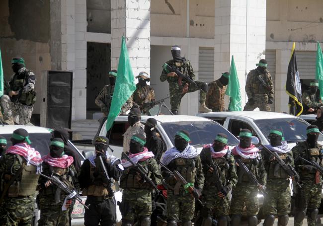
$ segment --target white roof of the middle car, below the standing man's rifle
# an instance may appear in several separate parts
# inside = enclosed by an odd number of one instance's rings
[[[118,116],[117,119],[124,119],[128,118],[127,115]],[[149,118],[154,118],[160,123],[167,123],[167,122],[185,122],[185,121],[209,121],[207,118],[202,118],[198,116],[191,116],[191,115],[142,115],[141,120],[146,121]]]

